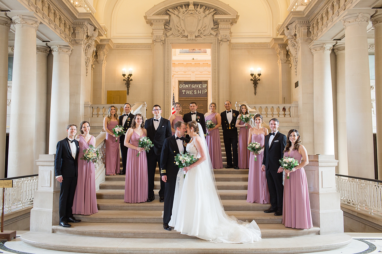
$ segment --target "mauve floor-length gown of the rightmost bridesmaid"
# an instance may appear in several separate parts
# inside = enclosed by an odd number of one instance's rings
[[[301,163],[302,155],[298,150],[292,150],[290,155],[284,153],[285,157],[292,157]],[[289,179],[284,182],[283,199],[283,221],[285,227],[311,228],[312,214],[309,203],[308,181],[304,168],[296,169],[289,174]]]

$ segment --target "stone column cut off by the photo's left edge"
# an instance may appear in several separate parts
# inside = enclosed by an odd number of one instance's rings
[[[10,19],[0,12],[0,178],[4,178],[6,96],[8,91],[8,32]]]

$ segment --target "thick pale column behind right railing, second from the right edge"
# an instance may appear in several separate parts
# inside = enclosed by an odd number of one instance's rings
[[[374,179],[367,24],[370,14],[345,16],[345,86],[348,173]]]

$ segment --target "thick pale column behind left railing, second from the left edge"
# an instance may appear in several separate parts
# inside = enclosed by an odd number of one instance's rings
[[[8,14],[12,14],[9,12]],[[13,54],[12,107],[9,132],[8,177],[33,174],[36,122],[36,31],[40,21],[17,15]]]

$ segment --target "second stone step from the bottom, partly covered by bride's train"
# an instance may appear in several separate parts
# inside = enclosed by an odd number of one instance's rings
[[[58,225],[52,227],[53,233],[67,235],[87,235],[100,237],[128,237],[128,238],[195,238],[182,235],[176,230],[163,229],[163,223],[105,223],[79,222],[64,228]],[[259,223],[261,238],[293,237],[302,235],[316,235],[320,228],[309,229],[286,228],[280,223]]]

